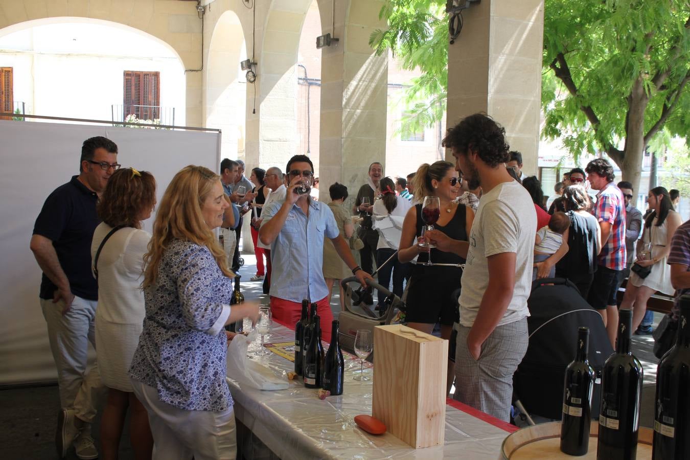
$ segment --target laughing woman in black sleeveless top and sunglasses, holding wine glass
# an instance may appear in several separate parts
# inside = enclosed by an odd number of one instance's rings
[[[424,197],[438,197],[441,205],[441,215],[434,224],[436,230],[444,232],[452,239],[467,241],[467,235],[472,228],[474,212],[469,206],[455,201],[460,190],[460,181],[453,163],[436,161],[431,166],[423,164],[415,174],[413,180],[414,196],[420,203]],[[431,334],[436,323],[440,323],[441,337],[450,339],[453,323],[457,322],[457,297],[453,292],[460,288],[462,269],[449,266],[424,266],[431,254],[433,263],[464,263],[465,260],[457,254],[442,252],[436,248],[431,251],[422,248],[418,243],[422,241],[422,204],[411,208],[402,224],[400,237],[400,251],[398,260],[406,263],[417,257],[413,265],[412,276],[408,282],[406,298],[407,326]],[[455,376],[455,363],[449,359],[447,389]]]

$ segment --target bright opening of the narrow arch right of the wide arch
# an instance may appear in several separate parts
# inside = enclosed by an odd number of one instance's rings
[[[222,130],[221,156],[244,157],[246,90],[239,62],[247,59],[239,17],[226,10],[215,22],[204,72],[204,126]]]

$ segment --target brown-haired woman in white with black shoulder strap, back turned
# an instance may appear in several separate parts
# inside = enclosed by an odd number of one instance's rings
[[[128,408],[135,459],[151,458],[153,438],[148,414],[132,392],[128,370],[145,313],[140,286],[144,253],[151,235],[141,230],[141,221],[151,216],[155,204],[155,179],[150,173],[133,168],[115,171],[98,202],[98,215],[103,222],[93,234],[91,257],[99,292],[96,354],[101,381],[108,387],[101,419],[104,460],[117,459]]]

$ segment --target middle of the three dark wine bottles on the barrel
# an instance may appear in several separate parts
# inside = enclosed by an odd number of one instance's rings
[[[633,312],[618,312],[615,353],[604,362],[597,459],[634,459],[638,450],[642,364],[630,351]]]

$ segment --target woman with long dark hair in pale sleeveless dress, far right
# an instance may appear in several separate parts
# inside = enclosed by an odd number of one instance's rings
[[[637,330],[647,312],[647,301],[655,292],[673,294],[671,267],[666,263],[671,252],[671,239],[682,223],[673,210],[669,192],[663,187],[649,190],[649,208],[653,212],[644,221],[642,238],[638,240],[636,264],[651,267],[647,277],[640,278],[631,270],[620,308],[633,309],[633,329]]]

